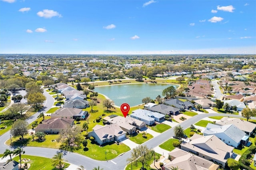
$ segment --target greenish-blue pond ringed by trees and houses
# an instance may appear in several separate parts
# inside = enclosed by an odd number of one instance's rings
[[[163,97],[162,91],[170,86],[178,88],[178,85],[165,83],[136,83],[95,87],[94,91],[107,96],[114,101],[116,106],[128,103],[130,107],[133,107],[142,104],[142,99],[145,97],[150,97],[153,100],[158,95]]]

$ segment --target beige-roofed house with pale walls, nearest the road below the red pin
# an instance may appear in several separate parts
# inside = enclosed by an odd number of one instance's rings
[[[96,125],[91,132],[88,133],[88,136],[93,136],[94,141],[102,145],[104,143],[112,141],[121,141],[125,137],[126,132],[122,130],[117,123],[106,125],[104,127]]]

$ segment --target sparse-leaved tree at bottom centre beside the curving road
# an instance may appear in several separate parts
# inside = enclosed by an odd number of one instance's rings
[[[134,165],[138,165],[138,162],[142,164],[142,170],[144,170],[144,164],[148,160],[152,158],[151,156],[152,150],[149,149],[146,145],[140,145],[137,146],[136,148],[133,148],[132,153],[131,153],[131,158],[128,158],[129,162],[134,163]]]

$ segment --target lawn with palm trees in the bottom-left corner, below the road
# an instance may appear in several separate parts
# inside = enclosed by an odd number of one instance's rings
[[[25,149],[26,152],[26,149]],[[45,158],[45,157],[40,157],[40,156],[31,156],[31,155],[21,155],[21,158],[28,158],[30,159],[29,162],[27,162],[28,164],[30,164],[30,168],[31,170],[58,170],[57,168],[52,166],[52,159],[50,158]],[[13,158],[15,161],[20,162],[20,157],[16,156]],[[21,163],[25,163],[23,161],[21,161]],[[60,169],[60,170],[64,170],[65,168],[67,168],[68,166],[70,166],[69,163],[65,163],[64,168]]]

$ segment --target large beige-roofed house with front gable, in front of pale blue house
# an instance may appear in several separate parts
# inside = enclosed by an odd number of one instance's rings
[[[202,136],[199,134],[194,134],[190,138],[190,142],[182,142],[180,148],[206,160],[222,164],[222,167],[226,166],[228,158],[232,158],[234,149],[215,135]]]

